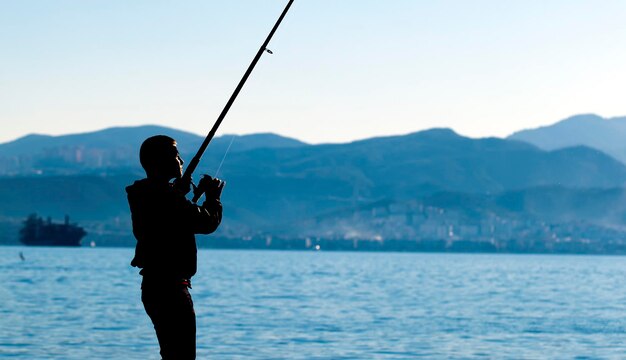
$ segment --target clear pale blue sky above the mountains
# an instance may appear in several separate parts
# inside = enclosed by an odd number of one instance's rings
[[[204,134],[285,1],[0,0],[0,142]],[[296,0],[220,133],[506,136],[626,115],[626,1]]]

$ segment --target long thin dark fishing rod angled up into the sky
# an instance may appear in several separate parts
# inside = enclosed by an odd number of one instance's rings
[[[217,129],[222,124],[222,121],[226,117],[226,114],[228,113],[228,110],[230,110],[230,107],[233,105],[233,102],[235,102],[235,99],[237,98],[237,95],[239,95],[239,92],[243,88],[243,85],[246,83],[246,80],[248,80],[248,77],[252,73],[252,70],[254,70],[254,67],[256,66],[257,62],[261,58],[261,55],[263,55],[264,52],[272,54],[272,51],[267,48],[267,45],[269,44],[270,40],[272,39],[272,36],[274,36],[274,33],[276,32],[276,29],[278,29],[278,26],[283,21],[283,18],[285,17],[285,15],[287,15],[287,12],[289,11],[289,8],[291,7],[291,4],[293,3],[293,1],[294,0],[289,0],[289,3],[287,3],[287,6],[285,7],[285,9],[283,10],[282,14],[280,14],[280,17],[276,21],[276,24],[274,24],[274,27],[270,31],[269,35],[267,35],[267,38],[265,39],[265,41],[263,42],[263,44],[259,48],[259,51],[257,51],[256,55],[254,56],[254,59],[252,59],[252,63],[250,63],[250,66],[248,66],[248,70],[246,70],[246,73],[243,75],[243,77],[239,81],[239,84],[235,88],[235,91],[230,96],[230,99],[228,99],[228,102],[226,103],[226,106],[224,106],[224,109],[222,110],[220,115],[217,117],[217,120],[215,121],[215,124],[213,124],[213,127],[211,128],[211,131],[209,131],[209,133],[207,134],[206,138],[202,142],[202,145],[200,145],[200,148],[198,149],[198,152],[193,157],[193,159],[191,159],[191,161],[189,162],[189,165],[187,165],[187,169],[185,169],[185,173],[183,174],[183,176],[180,178],[180,180],[176,184],[177,186],[179,186],[180,189],[187,189],[186,191],[187,192],[189,191],[189,187],[192,184],[191,175],[196,170],[196,167],[198,167],[198,164],[200,163],[200,159],[202,158],[202,155],[204,154],[204,151],[206,150],[207,146],[209,146],[209,143],[211,142],[211,140],[213,140],[213,137],[215,136],[215,133],[217,132]],[[197,193],[194,194],[193,202],[198,201],[200,196],[201,196],[201,194],[197,194]]]

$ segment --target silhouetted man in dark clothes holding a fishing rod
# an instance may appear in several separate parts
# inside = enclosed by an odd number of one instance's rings
[[[194,234],[209,234],[222,219],[224,183],[207,177],[198,187],[205,201],[198,206],[170,180],[182,176],[183,160],[176,141],[148,138],[139,152],[147,178],[126,188],[137,239],[131,265],[141,268],[141,301],[156,330],[161,357],[195,359],[196,315],[189,290],[196,273]]]

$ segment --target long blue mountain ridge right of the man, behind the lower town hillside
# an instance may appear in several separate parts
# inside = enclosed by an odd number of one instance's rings
[[[626,167],[587,147],[547,152],[519,141],[470,139],[449,129],[433,129],[348,144],[256,149],[234,154],[224,166],[224,175],[232,178],[255,174],[274,181],[335,184],[332,192],[343,189],[343,198],[360,199],[553,184],[621,186]]]

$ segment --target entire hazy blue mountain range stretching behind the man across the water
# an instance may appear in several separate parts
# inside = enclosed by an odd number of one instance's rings
[[[582,118],[587,120],[574,117],[555,127],[607,122]],[[214,175],[223,162],[218,176],[227,181],[226,207],[216,236],[225,239],[443,239],[457,244],[482,239],[508,248],[507,241],[515,237],[541,238],[545,244],[572,236],[580,243],[615,236],[626,227],[621,205],[626,166],[577,143],[554,141],[546,150],[544,143],[519,140],[539,130],[508,139],[470,139],[431,129],[322,145],[275,134],[225,135],[211,143],[198,174]],[[99,243],[131,245],[124,187],[143,176],[138,148],[154,134],[177,139],[186,159],[203,140],[142,126],[30,135],[0,144],[0,242],[14,242],[19,223],[38,212],[54,219],[71,215]]]

